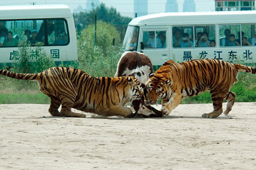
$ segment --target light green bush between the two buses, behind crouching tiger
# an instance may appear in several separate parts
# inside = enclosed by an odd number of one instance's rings
[[[118,34],[118,31],[110,24],[104,22],[98,24],[98,46],[94,46],[92,25],[84,29],[78,37],[79,68],[95,77],[113,77],[121,53],[108,42],[114,34]]]

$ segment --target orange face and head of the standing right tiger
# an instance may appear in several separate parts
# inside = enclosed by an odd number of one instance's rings
[[[146,84],[147,88],[147,100],[150,103],[156,103],[158,99],[166,99],[170,94],[170,84],[172,83],[170,80],[167,80],[161,74],[153,74],[151,73],[149,76],[149,80]]]

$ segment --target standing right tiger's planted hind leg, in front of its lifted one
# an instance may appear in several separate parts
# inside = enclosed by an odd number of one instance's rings
[[[206,118],[215,118],[218,117],[219,115],[221,115],[221,113],[223,112],[222,110],[222,102],[223,99],[225,97],[226,93],[217,93],[216,92],[211,92],[211,96],[212,96],[212,105],[214,110],[210,113],[204,113],[202,115],[202,117],[206,117]]]

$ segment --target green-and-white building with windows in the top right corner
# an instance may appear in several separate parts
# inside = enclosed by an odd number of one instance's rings
[[[255,0],[215,0],[215,11],[247,11],[255,9]]]

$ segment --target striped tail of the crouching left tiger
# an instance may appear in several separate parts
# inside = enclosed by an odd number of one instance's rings
[[[0,70],[0,74],[3,76],[19,79],[19,80],[40,80],[41,73],[25,74],[25,73],[14,73],[6,70]]]

